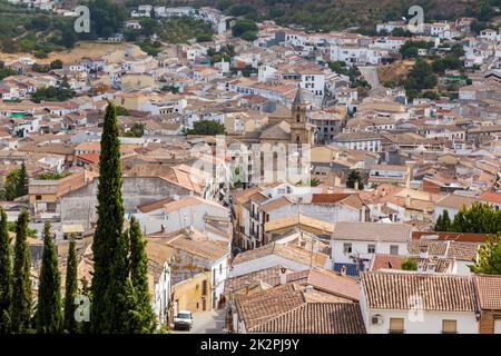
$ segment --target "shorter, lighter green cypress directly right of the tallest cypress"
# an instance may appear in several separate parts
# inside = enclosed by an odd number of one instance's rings
[[[135,217],[130,219],[130,285],[127,294],[136,306],[129,310],[129,333],[151,333],[156,328],[156,316],[151,307],[148,288],[148,257],[146,255],[146,241],[143,238],[141,228]]]

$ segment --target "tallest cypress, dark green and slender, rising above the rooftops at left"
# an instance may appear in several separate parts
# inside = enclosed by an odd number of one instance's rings
[[[125,248],[120,246],[124,245],[120,140],[117,109],[111,102],[106,108],[102,128],[97,199],[90,327],[92,333],[111,333],[114,325],[120,323],[117,300],[127,276],[127,270],[119,270],[127,259],[127,244]]]

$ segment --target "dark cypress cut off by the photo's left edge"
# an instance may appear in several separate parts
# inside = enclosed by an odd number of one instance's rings
[[[10,247],[7,214],[0,210],[0,334],[9,330],[12,303],[12,249]]]

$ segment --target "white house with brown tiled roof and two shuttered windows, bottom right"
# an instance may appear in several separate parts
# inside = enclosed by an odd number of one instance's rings
[[[361,289],[367,334],[479,333],[471,277],[370,271],[362,274]]]

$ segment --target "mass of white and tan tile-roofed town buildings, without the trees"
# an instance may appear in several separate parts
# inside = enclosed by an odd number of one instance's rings
[[[444,211],[501,206],[499,32],[473,36],[468,18],[412,38],[391,34],[404,22],[362,36],[264,21],[248,42],[218,10],[151,4],[125,27],[151,16],[202,19],[215,34],[157,56],[119,39],[43,71],[48,59],[2,59],[14,75],[0,80],[1,187],[22,164],[30,180],[0,206],[11,221],[29,210],[33,270],[51,220],[61,263],[76,235],[79,277],[92,278],[112,102],[125,218],[148,241],[163,325],[179,310],[219,310],[228,333],[501,333],[501,276],[469,267],[490,234],[434,230]],[[469,81],[448,71],[439,83],[458,81],[456,97],[410,100],[380,82],[410,39],[432,43],[418,57],[461,44]]]

